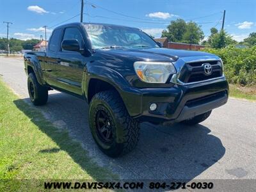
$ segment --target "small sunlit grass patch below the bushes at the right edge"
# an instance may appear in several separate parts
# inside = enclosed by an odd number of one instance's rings
[[[229,84],[230,97],[236,97],[239,99],[256,100],[256,88],[255,87],[243,87],[236,84]]]

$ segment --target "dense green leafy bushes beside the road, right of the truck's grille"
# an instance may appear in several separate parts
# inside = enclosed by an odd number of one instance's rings
[[[256,46],[244,49],[234,46],[223,49],[206,48],[203,51],[220,56],[229,83],[256,85]]]

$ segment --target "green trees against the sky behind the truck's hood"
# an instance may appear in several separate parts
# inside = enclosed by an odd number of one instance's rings
[[[193,21],[186,22],[183,19],[172,20],[167,28],[163,30],[161,37],[168,38],[170,42],[202,44],[217,49],[234,44],[242,44],[249,47],[256,45],[256,33],[250,33],[243,42],[237,42],[225,30],[218,31],[216,28],[211,28],[211,35],[207,40],[204,40],[205,35],[201,26]]]

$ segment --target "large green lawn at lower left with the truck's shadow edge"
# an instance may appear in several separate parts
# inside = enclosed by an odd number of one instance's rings
[[[0,191],[10,179],[118,179],[1,81],[0,90]]]

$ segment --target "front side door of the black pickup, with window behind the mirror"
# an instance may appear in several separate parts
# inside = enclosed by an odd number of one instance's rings
[[[63,29],[61,42],[67,39],[76,39],[80,47],[84,47],[82,31],[78,26],[67,26]],[[57,53],[56,57],[58,58],[58,65],[56,65],[58,87],[68,92],[83,95],[83,71],[88,58],[84,57],[80,52],[62,49]]]

